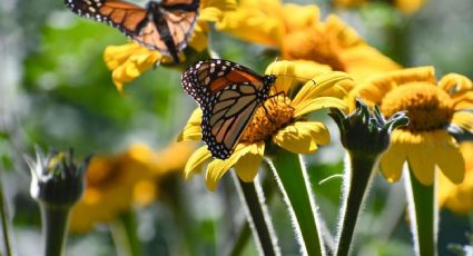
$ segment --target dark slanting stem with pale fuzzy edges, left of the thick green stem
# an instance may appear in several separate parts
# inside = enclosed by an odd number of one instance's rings
[[[233,176],[238,188],[238,194],[247,206],[247,218],[255,239],[259,244],[257,246],[263,255],[279,255],[274,227],[267,213],[266,204],[264,203],[264,195],[262,188],[257,187],[259,184],[257,181],[245,183],[237,175],[234,174]]]

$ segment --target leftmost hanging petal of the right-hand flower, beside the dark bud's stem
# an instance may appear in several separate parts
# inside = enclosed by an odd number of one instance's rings
[[[401,178],[403,165],[406,160],[405,152],[406,151],[402,144],[394,142],[391,145],[390,149],[387,149],[387,151],[382,156],[381,170],[387,181],[394,183]]]

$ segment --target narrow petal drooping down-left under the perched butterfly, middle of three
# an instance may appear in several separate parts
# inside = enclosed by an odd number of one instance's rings
[[[235,151],[228,159],[215,159],[210,161],[210,164],[207,166],[207,173],[205,176],[207,188],[214,191],[217,188],[217,184],[220,178],[238,161],[243,155],[246,155],[250,147],[247,145],[238,144],[235,148]]]

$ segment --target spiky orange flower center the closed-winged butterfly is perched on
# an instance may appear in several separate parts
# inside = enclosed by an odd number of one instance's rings
[[[293,120],[294,108],[289,105],[289,98],[278,96],[266,100],[265,108],[259,107],[255,117],[244,131],[242,142],[262,141],[274,135],[276,130]]]

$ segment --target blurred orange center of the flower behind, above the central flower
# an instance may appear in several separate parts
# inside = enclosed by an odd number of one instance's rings
[[[284,58],[314,60],[331,66],[335,71],[345,71],[339,51],[333,37],[313,28],[292,32],[284,38]]]

